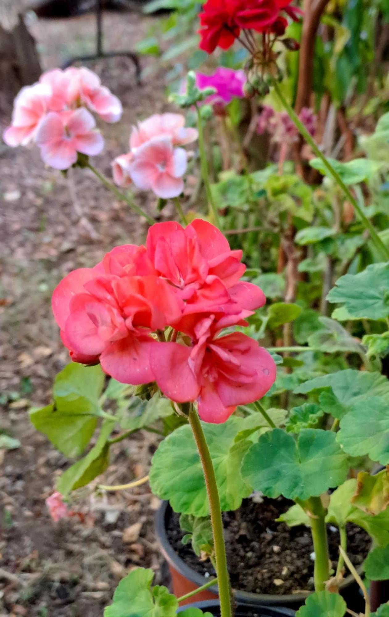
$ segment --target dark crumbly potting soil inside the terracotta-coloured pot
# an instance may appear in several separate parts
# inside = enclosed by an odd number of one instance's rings
[[[311,532],[306,526],[289,528],[275,521],[293,505],[287,499],[264,498],[262,503],[243,500],[241,507],[223,515],[228,569],[233,589],[255,594],[293,594],[313,590],[314,561]],[[180,516],[172,513],[167,524],[167,537],[175,552],[199,574],[214,569],[209,560],[199,561],[191,545],[183,545],[178,523]],[[327,525],[332,567],[338,563],[338,529]],[[363,529],[347,525],[347,554],[354,566],[361,565],[371,540]]]

